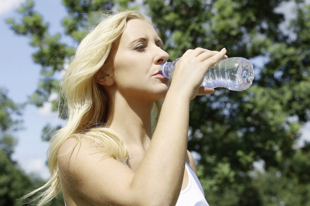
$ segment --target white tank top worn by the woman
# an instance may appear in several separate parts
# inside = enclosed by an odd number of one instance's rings
[[[188,174],[188,185],[180,192],[175,206],[209,206],[196,174],[186,162],[185,168]]]

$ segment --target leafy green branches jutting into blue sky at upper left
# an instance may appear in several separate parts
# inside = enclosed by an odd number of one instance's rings
[[[60,34],[51,36],[48,33],[49,24],[43,22],[43,17],[33,11],[33,1],[27,1],[17,11],[23,14],[21,22],[7,19],[7,23],[19,35],[30,39],[30,45],[37,48],[33,54],[33,61],[41,65],[42,79],[38,89],[30,98],[30,102],[42,106],[52,92],[59,92],[57,74],[64,70],[64,63],[75,52],[70,46],[60,43]]]

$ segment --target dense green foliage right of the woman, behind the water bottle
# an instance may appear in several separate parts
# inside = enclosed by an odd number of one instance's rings
[[[170,60],[198,46],[225,47],[229,57],[266,59],[263,68],[255,68],[255,82],[246,91],[216,88],[214,95],[192,101],[188,148],[201,155],[199,177],[210,205],[270,205],[262,191],[274,189],[281,196],[293,190],[267,182],[258,186],[250,176],[255,161],[263,160],[266,171],[277,168],[283,181],[296,178],[296,187],[299,178],[308,178],[304,172],[297,175],[305,170],[293,161],[297,154],[301,160],[308,156],[293,145],[309,120],[310,7],[297,4],[297,18],[287,28],[294,38],[280,30],[284,18],[274,12],[283,2],[144,1]],[[293,197],[277,200],[293,205],[288,200]],[[294,205],[305,205],[307,198]]]

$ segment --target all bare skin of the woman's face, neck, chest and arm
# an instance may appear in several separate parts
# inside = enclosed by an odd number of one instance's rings
[[[214,92],[200,85],[207,69],[227,58],[226,49],[186,51],[169,88],[168,79],[155,75],[169,57],[159,40],[152,25],[129,20],[113,48],[117,72],[97,79],[108,94],[107,124],[125,142],[131,168],[105,156],[90,139],[82,138],[78,149],[72,148],[75,139],[66,140],[58,165],[67,206],[175,205],[188,184],[185,161],[196,173],[187,151],[189,103],[196,95]],[[151,107],[163,97],[152,136]]]

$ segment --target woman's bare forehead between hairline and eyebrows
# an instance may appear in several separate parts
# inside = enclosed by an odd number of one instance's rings
[[[157,32],[153,26],[144,20],[131,19],[127,22],[127,27],[122,33],[120,44],[128,44],[136,38],[158,39]]]

